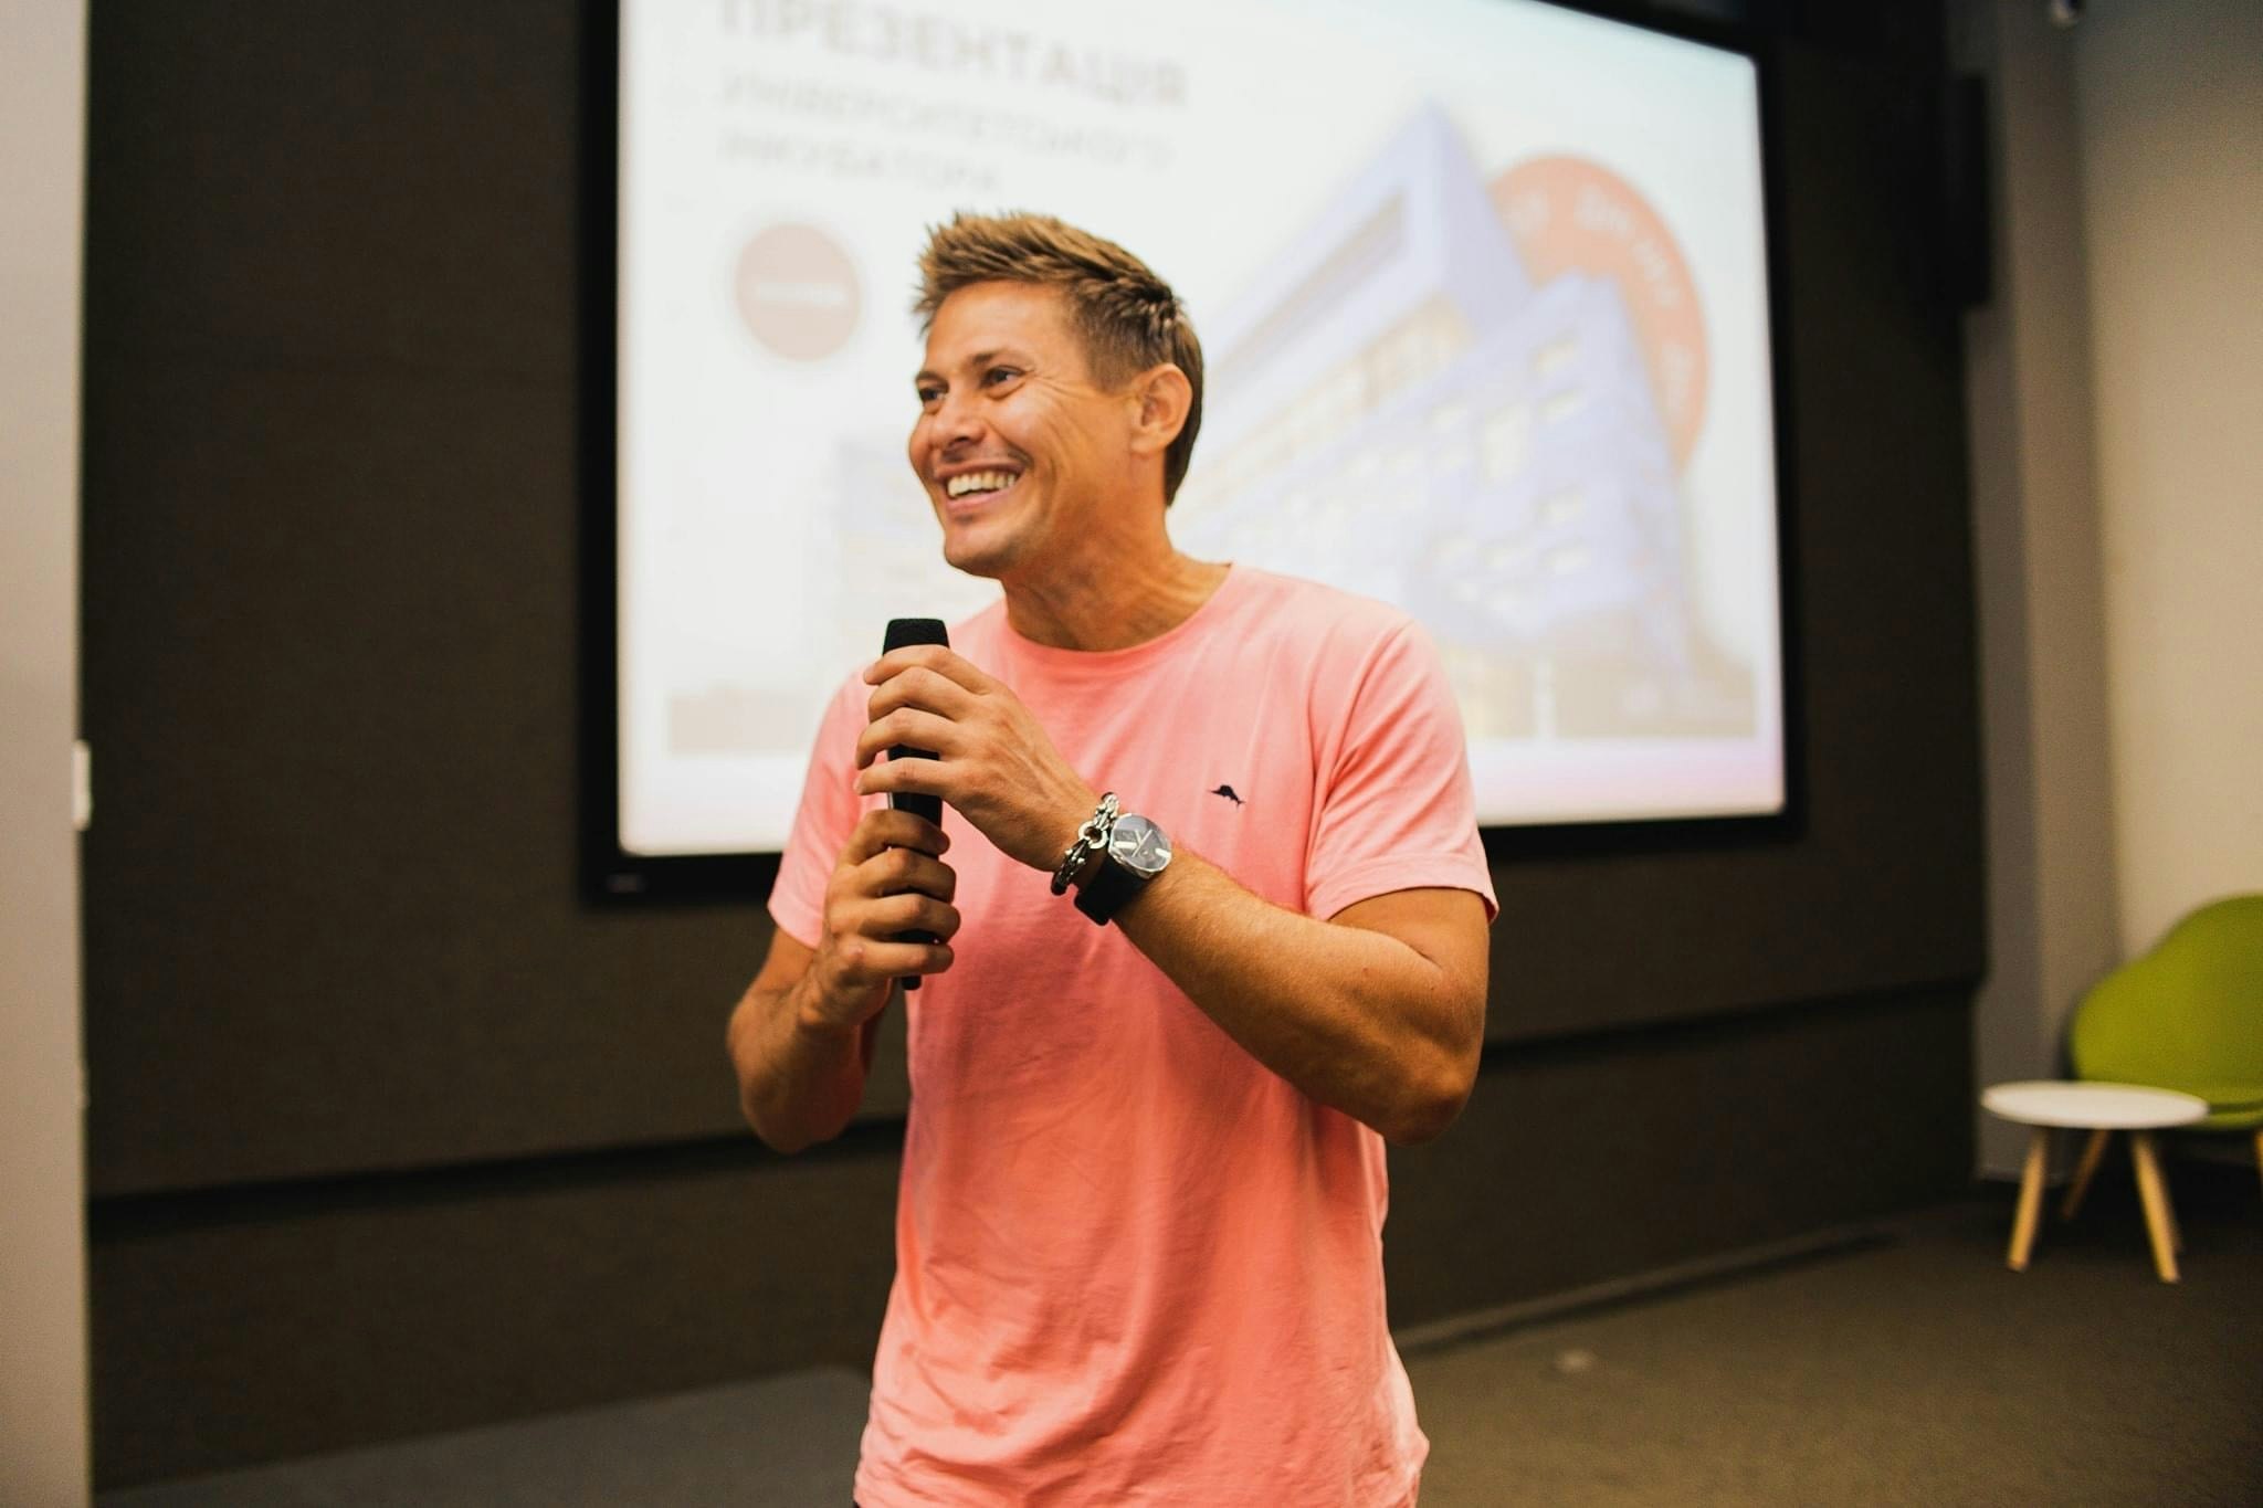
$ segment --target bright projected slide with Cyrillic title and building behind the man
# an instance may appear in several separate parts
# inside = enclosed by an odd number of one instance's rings
[[[1417,615],[1487,825],[1783,805],[1754,63],[1521,0],[622,0],[620,848],[776,852],[941,561],[926,228],[1179,289],[1174,543]]]

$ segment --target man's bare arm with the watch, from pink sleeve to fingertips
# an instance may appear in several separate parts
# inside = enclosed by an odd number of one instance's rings
[[[858,791],[941,796],[1000,852],[1050,873],[1098,791],[1012,687],[937,647],[887,653],[864,678],[878,690]],[[889,744],[939,757],[878,760]],[[1469,1099],[1487,983],[1471,891],[1396,891],[1317,920],[1181,848],[1116,925],[1258,1063],[1394,1142],[1435,1137]]]

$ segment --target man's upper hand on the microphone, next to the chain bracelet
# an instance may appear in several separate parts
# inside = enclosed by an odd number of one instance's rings
[[[860,794],[941,796],[1009,859],[1041,870],[1061,861],[1100,794],[1068,769],[1012,687],[939,644],[894,649],[864,681],[876,690],[855,748]],[[880,760],[892,744],[937,757]]]

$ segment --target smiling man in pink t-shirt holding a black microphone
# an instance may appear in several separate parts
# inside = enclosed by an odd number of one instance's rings
[[[729,1031],[794,1151],[926,981],[855,1497],[1412,1503],[1383,1139],[1469,1097],[1494,907],[1442,669],[1170,545],[1202,348],[1145,265],[962,215],[921,274],[912,470],[1005,597],[831,705]]]

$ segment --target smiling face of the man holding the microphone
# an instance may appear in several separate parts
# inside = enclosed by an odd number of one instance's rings
[[[912,470],[973,577],[1059,567],[1125,488],[1134,405],[1093,378],[1059,292],[975,283],[944,298],[917,378]]]

